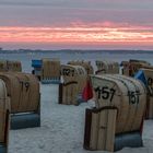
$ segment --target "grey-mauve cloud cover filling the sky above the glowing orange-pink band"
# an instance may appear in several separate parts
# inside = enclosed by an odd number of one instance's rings
[[[0,0],[3,26],[66,26],[76,21],[153,25],[152,14],[152,0]]]

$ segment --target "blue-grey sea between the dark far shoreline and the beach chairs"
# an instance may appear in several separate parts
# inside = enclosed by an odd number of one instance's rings
[[[91,61],[96,69],[96,60],[118,61],[119,63],[129,59],[139,59],[149,61],[153,64],[153,51],[141,50],[57,50],[57,51],[17,51],[0,52],[0,60],[20,60],[24,72],[32,72],[32,59],[58,58],[61,63],[70,60]]]

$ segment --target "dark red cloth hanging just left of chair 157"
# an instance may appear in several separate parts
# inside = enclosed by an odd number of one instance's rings
[[[83,93],[82,93],[82,98],[84,101],[89,101],[93,97],[93,89],[92,89],[92,85],[90,83],[90,81],[86,82],[86,85],[83,90]]]

